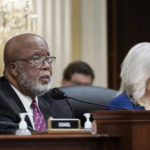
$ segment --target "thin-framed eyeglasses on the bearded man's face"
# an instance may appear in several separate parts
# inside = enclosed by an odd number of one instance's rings
[[[51,67],[55,59],[56,59],[55,56],[51,56],[51,57],[46,56],[46,57],[34,57],[34,58],[29,58],[29,59],[16,59],[16,60],[12,60],[11,62],[25,61],[27,63],[32,64],[35,68],[42,68],[45,62],[47,62],[49,66]]]

